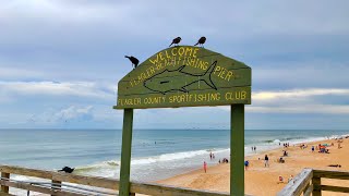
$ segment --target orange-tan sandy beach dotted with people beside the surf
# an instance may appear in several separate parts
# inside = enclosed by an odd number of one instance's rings
[[[318,144],[334,144],[327,147],[329,154],[320,154],[315,149],[312,152],[312,146]],[[337,139],[327,139],[305,144],[308,147],[301,148],[300,145],[291,145],[288,148],[280,148],[256,152],[256,155],[245,157],[250,161],[249,169],[245,173],[245,194],[249,195],[276,195],[287,184],[290,175],[296,176],[304,168],[314,168],[323,170],[349,171],[349,138],[342,139],[341,148],[338,148]],[[277,159],[282,156],[282,150],[287,150],[288,156],[284,157],[285,163],[278,163]],[[269,157],[269,168],[265,168],[264,155]],[[261,160],[258,160],[258,158]],[[218,161],[218,160],[217,160]],[[328,164],[340,164],[341,168],[328,167]],[[203,169],[197,169],[189,173],[180,174],[170,179],[158,181],[157,183],[198,188],[219,192],[229,192],[230,167],[227,163],[220,163],[208,167],[207,173]],[[285,183],[278,183],[279,175],[284,176]],[[323,180],[323,184],[347,186],[349,181]],[[333,192],[323,192],[323,195],[347,195]]]

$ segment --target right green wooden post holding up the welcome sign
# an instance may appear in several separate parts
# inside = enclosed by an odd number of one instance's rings
[[[231,105],[230,195],[244,195],[244,105]]]

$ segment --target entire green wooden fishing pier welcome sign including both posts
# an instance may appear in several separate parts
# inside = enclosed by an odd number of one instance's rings
[[[120,196],[130,195],[133,109],[230,105],[230,195],[244,195],[244,105],[251,105],[251,68],[191,46],[157,52],[118,84],[124,109]]]

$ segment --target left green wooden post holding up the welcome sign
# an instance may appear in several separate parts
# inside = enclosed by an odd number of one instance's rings
[[[121,147],[121,169],[120,169],[120,196],[130,195],[130,166],[131,166],[131,144],[132,144],[133,109],[124,109]]]

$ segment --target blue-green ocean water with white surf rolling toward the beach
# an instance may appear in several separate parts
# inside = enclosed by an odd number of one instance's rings
[[[120,130],[0,130],[0,164],[46,170],[74,167],[74,173],[119,179]],[[348,135],[334,130],[246,130],[245,155]],[[216,164],[229,158],[228,130],[134,130],[131,180],[157,181],[197,169],[206,161]],[[209,151],[215,159],[209,159]],[[25,179],[20,179],[25,180]]]

